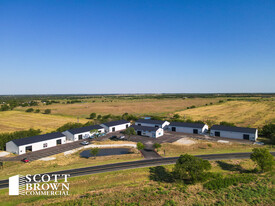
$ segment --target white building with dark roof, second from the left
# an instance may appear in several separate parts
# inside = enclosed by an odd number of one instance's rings
[[[87,127],[81,127],[81,128],[74,128],[74,129],[69,129],[65,132],[62,132],[67,140],[69,141],[77,141],[81,139],[87,139],[90,136],[92,136],[94,133],[91,133],[91,130],[97,130],[99,133],[104,132],[104,128],[101,127],[100,125],[91,125]]]

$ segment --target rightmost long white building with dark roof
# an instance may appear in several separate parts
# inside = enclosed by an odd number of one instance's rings
[[[210,129],[210,136],[256,141],[258,138],[258,129],[213,125]]]

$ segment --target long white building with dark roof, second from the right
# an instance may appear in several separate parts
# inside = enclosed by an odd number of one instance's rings
[[[208,126],[201,123],[171,122],[168,126],[168,130],[172,132],[204,134],[208,131]]]

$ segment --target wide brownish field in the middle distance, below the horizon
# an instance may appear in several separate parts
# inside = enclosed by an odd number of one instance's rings
[[[84,103],[75,104],[52,104],[32,107],[34,109],[51,109],[52,114],[67,115],[73,117],[87,118],[90,113],[106,115],[122,115],[129,114],[163,114],[174,113],[186,109],[186,107],[202,106],[212,102],[213,104],[221,100],[221,98],[189,98],[189,99],[106,99],[106,100],[86,100]],[[102,102],[104,101],[104,102]],[[18,108],[19,110],[26,110],[25,108]]]

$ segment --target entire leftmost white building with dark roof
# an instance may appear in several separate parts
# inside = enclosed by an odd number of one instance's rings
[[[61,132],[54,132],[11,140],[6,143],[6,151],[21,155],[26,152],[42,150],[65,143],[66,136]]]

